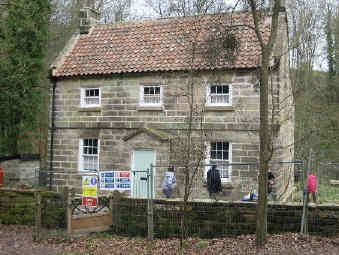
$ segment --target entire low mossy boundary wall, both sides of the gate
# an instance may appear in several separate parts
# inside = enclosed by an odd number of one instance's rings
[[[62,194],[41,192],[42,226],[66,228],[66,203]],[[89,218],[90,225],[107,224],[114,233],[147,236],[147,200],[114,198],[112,221]],[[178,237],[182,202],[154,200],[154,234],[156,238]],[[334,236],[339,233],[339,206],[317,205],[308,208],[310,234]],[[299,232],[300,204],[269,204],[269,233]],[[187,229],[189,236],[213,238],[255,233],[256,204],[245,202],[189,202]],[[102,222],[99,222],[102,220]],[[34,191],[0,189],[0,224],[34,225]],[[87,224],[87,223],[86,223]],[[76,229],[76,226],[74,226]],[[83,226],[79,229],[83,232]],[[77,231],[74,231],[77,232]],[[86,232],[86,231],[85,231]]]

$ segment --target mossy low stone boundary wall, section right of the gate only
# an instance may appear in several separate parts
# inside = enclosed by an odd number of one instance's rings
[[[178,201],[154,201],[155,237],[178,237],[180,234],[180,206]],[[244,202],[190,202],[188,235],[202,238],[253,234],[256,228],[256,204]],[[113,203],[113,231],[129,236],[147,235],[147,200],[123,198]],[[302,205],[270,204],[269,233],[299,232]],[[339,206],[309,207],[309,233],[337,235]]]

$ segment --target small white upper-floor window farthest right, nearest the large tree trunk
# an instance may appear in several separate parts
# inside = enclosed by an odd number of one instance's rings
[[[229,84],[210,84],[207,86],[207,105],[232,105],[232,86]]]

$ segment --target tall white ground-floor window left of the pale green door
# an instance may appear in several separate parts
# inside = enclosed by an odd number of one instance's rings
[[[100,140],[79,140],[79,171],[99,171]]]

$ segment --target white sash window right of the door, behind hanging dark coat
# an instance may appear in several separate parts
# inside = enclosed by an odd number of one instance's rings
[[[231,182],[232,166],[232,144],[225,141],[211,141],[207,144],[206,148],[206,164],[209,166],[205,169],[205,176],[207,171],[211,168],[210,165],[217,165],[220,171],[222,182]]]

